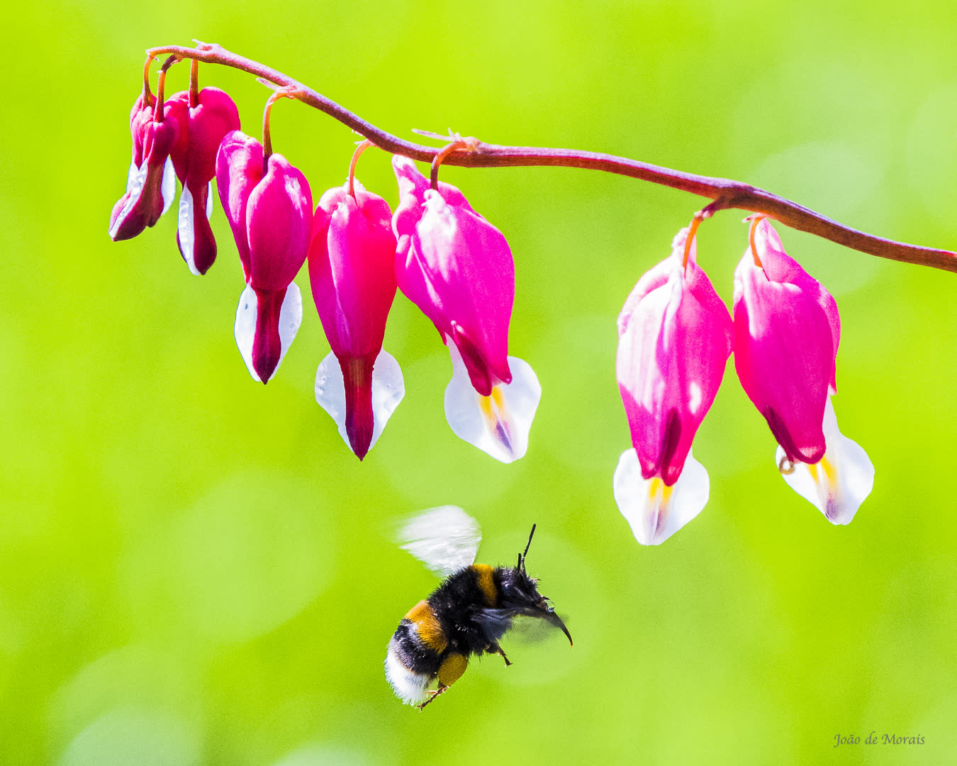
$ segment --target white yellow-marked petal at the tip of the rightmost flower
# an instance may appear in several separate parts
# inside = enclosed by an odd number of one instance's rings
[[[828,397],[824,410],[824,439],[827,451],[812,465],[797,462],[785,482],[816,507],[832,524],[850,524],[857,508],[874,488],[874,463],[857,441],[837,429],[834,405]],[[777,465],[785,460],[780,446],[774,455]]]

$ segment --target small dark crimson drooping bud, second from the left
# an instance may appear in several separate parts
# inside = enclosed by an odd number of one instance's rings
[[[223,137],[239,129],[239,112],[219,88],[203,88],[195,104],[190,105],[188,91],[174,94],[169,101],[180,102],[184,115],[180,138],[170,152],[183,185],[176,243],[189,271],[206,274],[216,259],[216,240],[210,226],[216,152]]]

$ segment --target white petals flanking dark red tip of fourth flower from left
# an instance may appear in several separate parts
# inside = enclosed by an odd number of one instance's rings
[[[399,363],[388,351],[380,350],[372,367],[372,440],[369,441],[369,449],[372,449],[375,442],[382,436],[389,417],[392,417],[392,413],[405,395],[406,386]],[[345,441],[345,446],[352,449],[348,434],[345,432],[343,370],[332,351],[326,354],[323,361],[319,363],[319,369],[316,370],[316,401],[336,421],[339,436]]]

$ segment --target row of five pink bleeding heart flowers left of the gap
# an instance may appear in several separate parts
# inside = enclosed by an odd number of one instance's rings
[[[177,241],[190,271],[204,274],[216,254],[214,176],[246,282],[235,339],[254,379],[275,375],[296,336],[302,298],[293,280],[308,260],[331,347],[316,374],[316,399],[360,460],[405,393],[398,363],[382,348],[397,287],[449,348],[445,411],[453,431],[501,462],[523,457],[541,387],[526,363],[508,356],[512,254],[456,187],[433,190],[411,160],[393,157],[394,214],[351,177],[323,193],[313,211],[302,173],[240,132],[222,91],[146,101],[131,112],[133,161],[110,237],[135,237],[154,225],[171,204],[175,172],[183,184]]]

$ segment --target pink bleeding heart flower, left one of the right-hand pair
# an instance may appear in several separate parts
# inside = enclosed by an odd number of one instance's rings
[[[663,542],[707,503],[707,471],[691,457],[691,442],[731,353],[731,320],[696,262],[694,240],[684,262],[687,235],[679,232],[618,316],[618,391],[633,449],[618,462],[614,498],[643,545]]]

